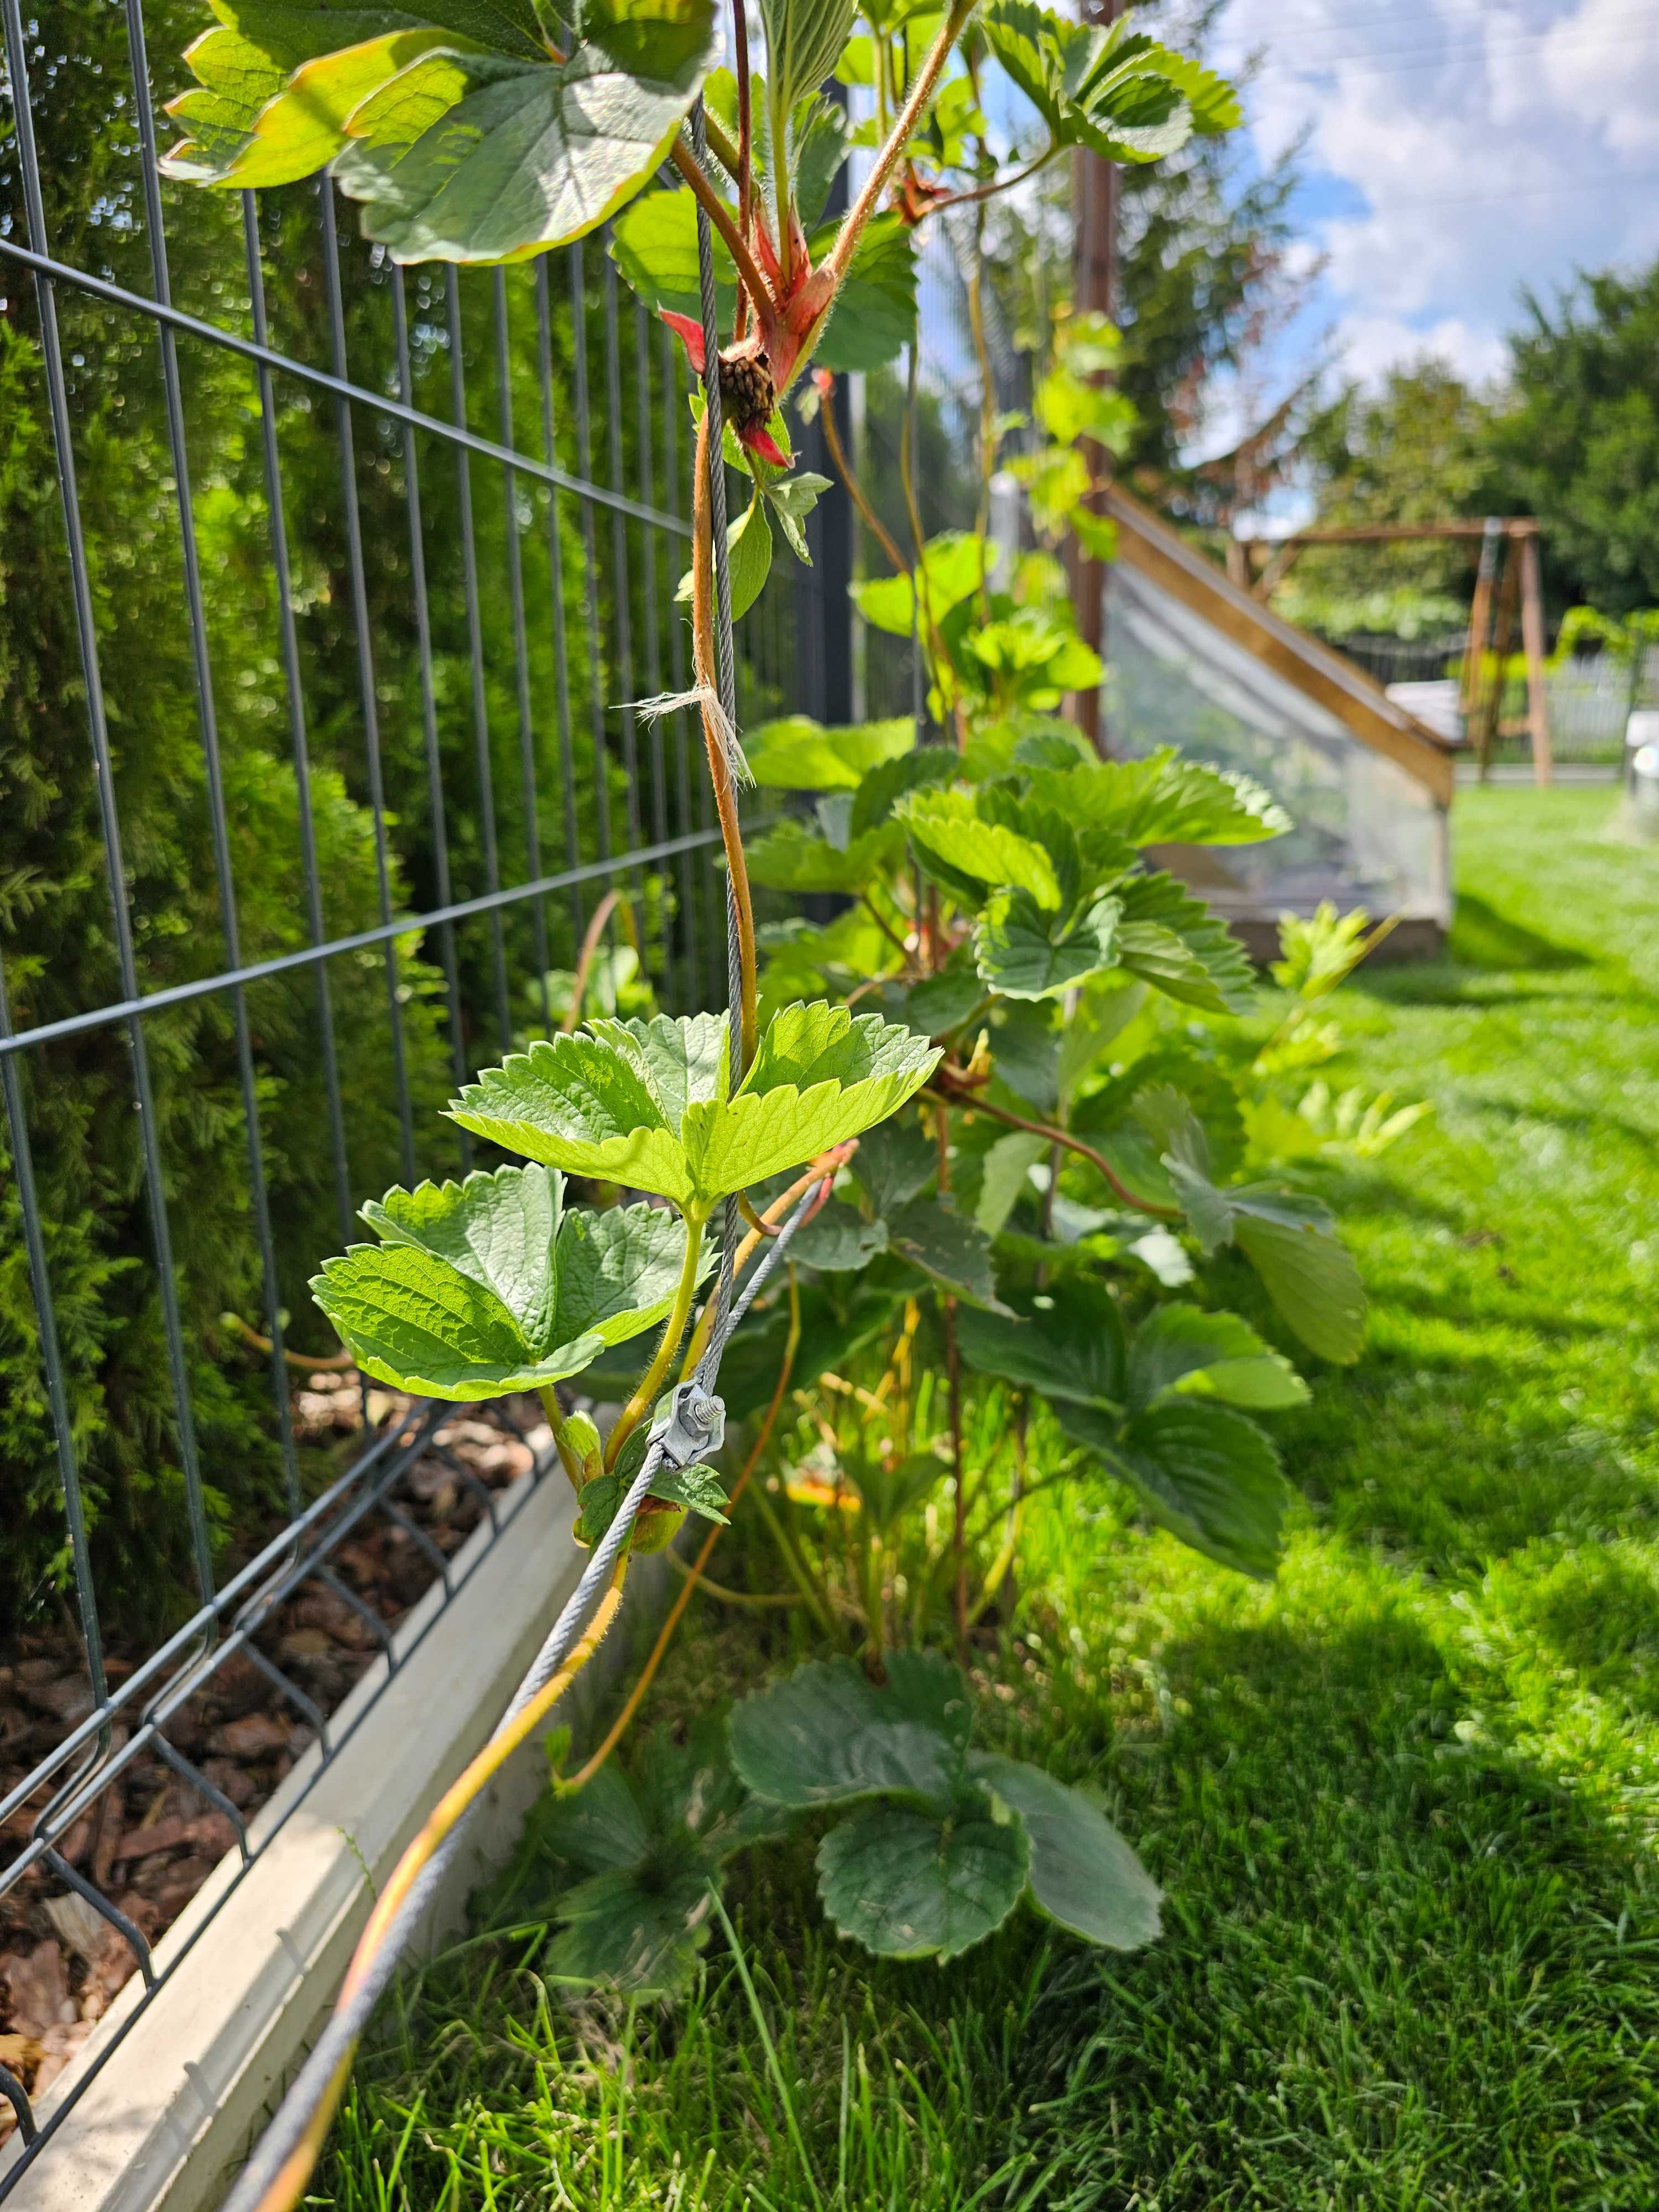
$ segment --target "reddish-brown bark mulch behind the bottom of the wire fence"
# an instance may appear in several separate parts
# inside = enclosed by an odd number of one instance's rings
[[[363,1394],[352,1371],[312,1374],[292,1405],[303,1442],[334,1442],[345,1451],[354,1431],[363,1429]],[[369,1391],[372,1420],[400,1422],[407,1405],[387,1391]],[[484,1506],[460,1480],[456,1462],[500,1491],[529,1471],[533,1453],[520,1438],[542,1420],[542,1407],[529,1396],[456,1407],[392,1491],[403,1517],[438,1553],[458,1551],[484,1517]],[[383,1513],[365,1515],[332,1555],[332,1566],[349,1597],[310,1579],[254,1637],[257,1648],[323,1714],[345,1701],[380,1650],[369,1615],[396,1628],[436,1579],[436,1564],[422,1544]],[[115,1639],[106,1652],[111,1683],[117,1686],[144,1657],[144,1646],[124,1648]],[[69,1619],[29,1628],[2,1659],[0,1794],[9,1794],[93,1710],[93,1692],[86,1655]],[[117,1725],[115,1745],[126,1734]],[[166,1736],[250,1818],[314,1741],[314,1728],[248,1652],[234,1652],[166,1723]],[[29,1843],[49,1796],[51,1787],[42,1785],[4,1823],[0,1851],[7,1858]],[[153,1944],[234,1843],[237,1832],[223,1809],[148,1752],[122,1770],[58,1849]],[[135,1971],[126,1938],[66,1889],[51,1867],[31,1867],[0,1896],[0,2066],[38,2097],[69,2066]],[[0,2143],[13,2126],[11,2106],[0,2097]]]

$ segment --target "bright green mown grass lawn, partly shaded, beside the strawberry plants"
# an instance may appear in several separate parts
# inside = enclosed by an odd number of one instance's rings
[[[1610,816],[1460,796],[1447,960],[1340,1002],[1343,1079],[1436,1110],[1338,1192],[1371,1336],[1281,1422],[1279,1582],[1033,1520],[982,1732],[1108,1792],[1164,1942],[876,1964],[803,1838],[730,1885],[752,2002],[719,1936],[677,2013],[573,2020],[535,1931],[453,1953],[314,2203],[1659,2205],[1659,854]],[[699,1599],[646,1721],[770,1621]]]

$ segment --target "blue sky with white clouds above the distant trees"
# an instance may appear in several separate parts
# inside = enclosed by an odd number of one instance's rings
[[[1325,263],[1270,378],[1329,336],[1363,383],[1425,352],[1484,383],[1522,285],[1659,254],[1659,0],[1228,0],[1208,60],[1252,53],[1252,153],[1307,135]]]

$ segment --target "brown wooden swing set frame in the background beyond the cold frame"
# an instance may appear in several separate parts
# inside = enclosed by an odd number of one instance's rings
[[[1469,608],[1469,644],[1462,657],[1458,706],[1467,741],[1480,761],[1480,781],[1491,770],[1493,741],[1531,737],[1533,776],[1555,781],[1551,717],[1544,690],[1544,591],[1537,562],[1535,515],[1453,518],[1449,522],[1367,522],[1349,529],[1294,531],[1290,538],[1230,538],[1228,575],[1267,602],[1290,573],[1303,546],[1411,544],[1427,538],[1471,538],[1480,542],[1475,597]],[[1265,555],[1256,566],[1256,555]],[[1526,717],[1500,721],[1504,659],[1520,604],[1522,653],[1526,655]]]

